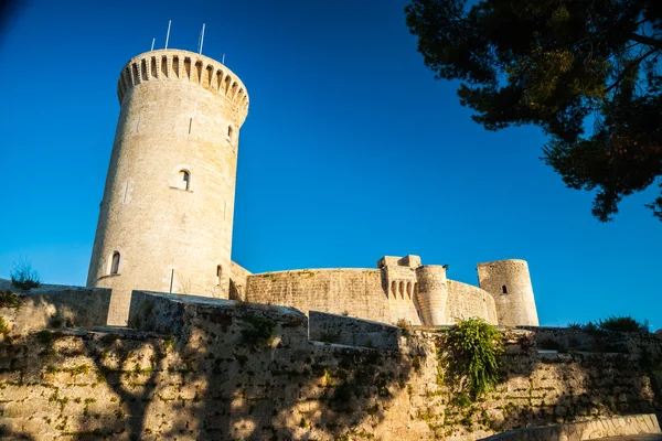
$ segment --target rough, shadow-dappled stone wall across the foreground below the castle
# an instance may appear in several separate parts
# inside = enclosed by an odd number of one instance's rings
[[[563,345],[579,331],[503,329],[503,381],[471,401],[448,380],[444,330],[143,291],[128,329],[95,327],[98,316],[19,326],[40,295],[0,297],[7,438],[477,440],[661,410],[662,340],[649,334],[563,352],[540,337]],[[54,316],[68,308],[52,305]],[[659,432],[647,418],[640,431]]]

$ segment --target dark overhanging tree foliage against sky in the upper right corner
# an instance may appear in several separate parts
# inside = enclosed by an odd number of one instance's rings
[[[488,130],[535,125],[544,161],[592,214],[662,176],[659,0],[412,0],[418,52]],[[662,220],[660,196],[647,207]]]

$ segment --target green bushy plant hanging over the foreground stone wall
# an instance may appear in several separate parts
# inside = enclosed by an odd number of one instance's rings
[[[450,377],[459,384],[466,379],[472,398],[501,380],[499,356],[503,354],[503,336],[495,326],[482,319],[461,320],[448,330],[446,344]]]

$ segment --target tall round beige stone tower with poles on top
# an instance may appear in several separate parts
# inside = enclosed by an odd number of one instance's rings
[[[117,95],[87,286],[113,289],[119,325],[132,290],[227,298],[246,87],[214,60],[161,50],[126,64]]]

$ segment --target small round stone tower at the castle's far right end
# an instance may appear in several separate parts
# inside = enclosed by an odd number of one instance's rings
[[[525,260],[508,259],[478,263],[478,283],[494,297],[499,324],[537,326],[533,286]]]

